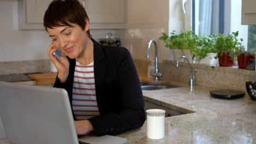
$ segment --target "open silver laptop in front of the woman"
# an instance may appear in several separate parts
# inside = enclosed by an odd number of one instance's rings
[[[127,143],[117,136],[78,136],[65,89],[0,82],[0,115],[9,143]]]

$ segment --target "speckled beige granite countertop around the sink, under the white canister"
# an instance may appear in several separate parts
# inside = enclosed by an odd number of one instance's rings
[[[155,83],[147,76],[139,77],[141,82]],[[117,136],[128,143],[256,143],[256,101],[247,93],[240,99],[217,99],[209,93],[214,88],[191,88],[176,81],[158,83],[181,87],[143,91],[144,100],[188,114],[166,117],[165,137],[160,140],[147,138],[147,122]]]

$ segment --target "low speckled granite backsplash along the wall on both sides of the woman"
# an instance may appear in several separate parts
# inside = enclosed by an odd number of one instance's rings
[[[136,69],[140,74],[148,73],[148,65],[152,62],[149,60],[133,59]],[[226,67],[214,67],[208,65],[194,64],[197,69],[195,80],[196,85],[214,87],[214,88],[230,88],[246,92],[245,82],[256,81],[256,71],[234,69]],[[48,72],[50,70],[50,60],[41,59],[34,61],[16,61],[16,62],[0,62],[0,74],[23,74],[35,72]],[[159,71],[162,72],[162,79],[178,80],[188,82],[189,65],[188,63],[176,63],[169,60],[159,62]]]

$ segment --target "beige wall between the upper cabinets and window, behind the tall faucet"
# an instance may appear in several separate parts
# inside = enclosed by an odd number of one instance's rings
[[[176,3],[181,3],[175,0]],[[178,8],[175,11],[179,12]],[[173,10],[174,11],[174,10]],[[176,13],[178,13],[176,12]],[[159,61],[172,57],[172,51],[159,40],[161,33],[168,33],[169,1],[129,0],[126,1],[126,29],[117,30],[124,47],[130,50],[135,59],[146,60],[148,41],[155,39],[158,43]],[[175,13],[175,14],[176,14]],[[174,17],[174,16],[173,16]],[[179,15],[178,15],[179,17]],[[179,31],[177,29],[177,31]],[[150,61],[154,61],[154,46],[150,49]]]

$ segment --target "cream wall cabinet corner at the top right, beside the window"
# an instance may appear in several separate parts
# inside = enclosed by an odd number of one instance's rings
[[[255,0],[242,0],[242,25],[256,25],[255,5]]]

